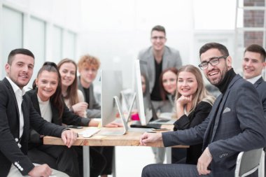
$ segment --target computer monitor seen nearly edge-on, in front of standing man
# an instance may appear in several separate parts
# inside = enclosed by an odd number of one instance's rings
[[[151,96],[147,80],[147,63],[142,60],[135,60],[135,86],[137,93],[137,109],[141,125],[147,125],[153,118],[153,108],[151,104]],[[141,77],[144,78],[141,80]],[[142,82],[144,81],[144,82]],[[142,87],[145,84],[145,87]]]

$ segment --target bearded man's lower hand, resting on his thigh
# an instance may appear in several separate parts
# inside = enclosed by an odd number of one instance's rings
[[[199,160],[197,160],[197,171],[199,172],[200,175],[206,175],[211,173],[207,167],[211,163],[212,157],[211,153],[209,151],[209,148],[207,147],[202,155],[200,156]]]

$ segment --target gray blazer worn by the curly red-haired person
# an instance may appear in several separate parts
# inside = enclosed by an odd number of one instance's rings
[[[83,93],[85,101],[87,103],[90,103],[89,107],[87,108],[87,118],[100,118],[101,117],[101,106],[97,103],[97,101],[94,97],[93,84],[91,84],[89,87],[89,91],[90,91],[90,100],[89,101],[86,100],[83,86],[80,83],[80,77],[78,77],[78,89]]]

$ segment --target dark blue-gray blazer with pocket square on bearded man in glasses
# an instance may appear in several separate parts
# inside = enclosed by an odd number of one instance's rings
[[[214,129],[211,131],[212,123]],[[202,150],[208,146],[213,156],[211,174],[224,176],[230,173],[234,176],[239,152],[266,146],[265,127],[266,118],[258,92],[251,83],[237,75],[225,93],[216,99],[202,124],[162,133],[162,140],[165,146],[194,145],[203,141]]]

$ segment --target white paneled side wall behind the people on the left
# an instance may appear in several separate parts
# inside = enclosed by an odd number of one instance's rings
[[[76,59],[80,0],[0,0],[0,76],[10,50],[28,48],[35,55],[34,75],[44,61]],[[29,85],[31,85],[31,82]]]

